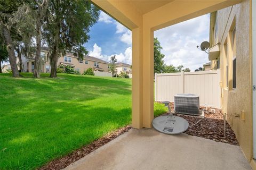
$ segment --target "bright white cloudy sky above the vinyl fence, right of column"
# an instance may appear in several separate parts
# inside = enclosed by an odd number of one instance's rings
[[[196,48],[203,41],[209,41],[209,15],[172,25],[155,31],[161,43],[164,62],[174,66],[183,65],[191,71],[203,67],[208,55]]]

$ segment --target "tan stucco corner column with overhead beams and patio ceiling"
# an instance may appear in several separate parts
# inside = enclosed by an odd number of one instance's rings
[[[154,115],[154,31],[241,1],[92,2],[132,31],[132,127],[141,129]]]

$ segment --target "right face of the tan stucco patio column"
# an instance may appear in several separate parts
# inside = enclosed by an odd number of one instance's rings
[[[143,127],[154,118],[154,32],[143,23]]]

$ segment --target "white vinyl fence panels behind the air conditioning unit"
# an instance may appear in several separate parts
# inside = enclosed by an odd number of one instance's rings
[[[200,105],[221,107],[220,69],[212,71],[155,73],[155,101],[174,101],[176,94],[199,95]]]

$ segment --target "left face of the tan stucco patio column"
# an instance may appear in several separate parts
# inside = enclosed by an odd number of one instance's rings
[[[132,128],[140,129],[142,123],[142,29],[132,29]]]

